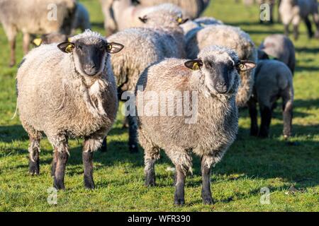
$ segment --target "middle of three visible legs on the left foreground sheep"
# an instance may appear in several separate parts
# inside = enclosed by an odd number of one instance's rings
[[[56,163],[53,186],[56,189],[65,190],[65,168],[67,167],[67,160],[69,159],[69,146],[67,144],[67,138],[60,138],[56,147]]]

